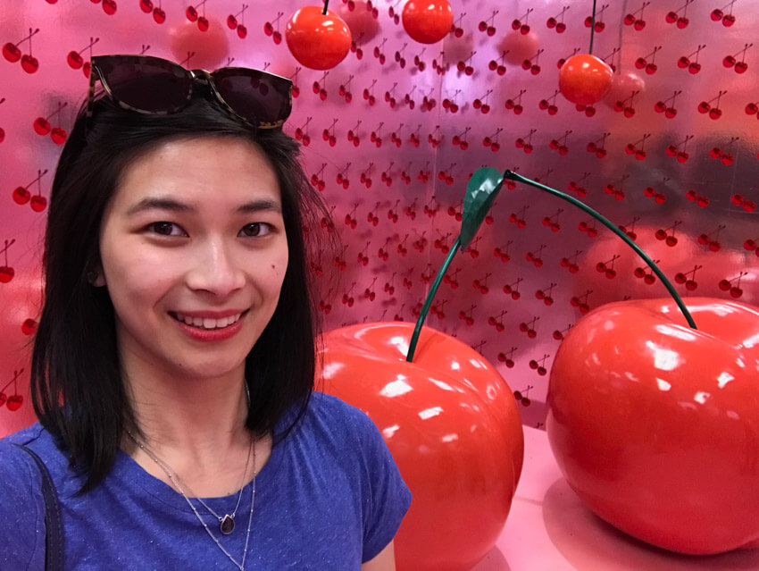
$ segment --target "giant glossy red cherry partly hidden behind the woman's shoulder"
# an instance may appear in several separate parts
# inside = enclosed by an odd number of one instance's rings
[[[388,443],[411,509],[396,535],[399,571],[471,569],[501,533],[524,441],[513,393],[477,351],[413,323],[326,333],[324,390],[365,411]]]

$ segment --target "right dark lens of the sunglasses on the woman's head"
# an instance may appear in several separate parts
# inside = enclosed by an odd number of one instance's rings
[[[229,107],[253,123],[285,122],[290,114],[292,83],[256,70],[221,69],[213,84]]]

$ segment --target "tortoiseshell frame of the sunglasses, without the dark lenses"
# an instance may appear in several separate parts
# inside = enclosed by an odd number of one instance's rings
[[[115,95],[113,95],[113,90],[108,85],[108,82],[104,79],[104,73],[100,70],[99,63],[105,63],[106,61],[109,63],[115,63],[115,64],[155,62],[155,63],[160,63],[164,67],[167,66],[168,64],[171,67],[177,68],[183,71],[188,77],[188,79],[190,80],[187,99],[176,108],[161,110],[161,111],[148,111],[146,109],[139,109],[138,107],[129,105],[128,103],[121,101],[119,97],[116,97]],[[292,113],[292,108],[293,108],[293,82],[292,80],[288,80],[288,78],[283,78],[279,75],[276,75],[275,73],[269,73],[268,71],[255,70],[253,68],[246,68],[246,67],[221,67],[216,71],[188,70],[187,68],[179,65],[179,63],[174,63],[174,62],[171,62],[171,60],[163,59],[161,57],[154,57],[153,55],[93,55],[91,58],[91,66],[92,68],[89,74],[88,104],[87,104],[87,113],[86,113],[88,120],[92,118],[93,106],[96,101],[96,97],[95,97],[96,80],[100,81],[100,84],[103,86],[104,92],[108,95],[108,97],[111,97],[111,99],[113,99],[113,101],[117,105],[119,105],[122,109],[126,109],[128,111],[133,111],[136,113],[142,113],[145,115],[169,115],[171,113],[179,113],[179,111],[187,107],[187,105],[189,105],[189,102],[192,100],[193,86],[195,85],[196,81],[199,81],[203,83],[204,85],[209,86],[209,88],[211,89],[213,93],[213,96],[216,97],[216,100],[226,111],[234,115],[240,121],[246,123],[247,126],[252,127],[254,129],[279,129],[288,120],[290,113]],[[274,82],[285,82],[285,85],[287,85],[287,88],[288,88],[288,113],[282,119],[279,119],[274,122],[263,122],[263,121],[253,122],[251,119],[235,111],[234,108],[231,107],[224,100],[224,97],[221,96],[221,93],[216,88],[216,85],[213,81],[213,76],[218,71],[236,71],[236,70],[241,70],[241,71],[246,71],[246,72],[255,71],[257,73],[260,73],[261,76],[264,78],[267,78],[267,77],[271,78]],[[250,74],[246,73],[244,75],[250,75]]]

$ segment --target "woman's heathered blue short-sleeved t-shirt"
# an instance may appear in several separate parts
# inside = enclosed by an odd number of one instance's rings
[[[121,450],[103,483],[75,497],[82,480],[51,434],[34,424],[0,441],[0,570],[37,570],[45,563],[38,467],[13,443],[35,451],[53,477],[62,508],[65,569],[235,568],[187,501]],[[238,561],[251,488],[249,483],[243,491],[235,531],[226,536],[195,501]],[[221,514],[237,500],[237,493],[204,499]],[[371,419],[315,392],[302,424],[274,446],[256,476],[246,569],[358,569],[393,539],[410,504],[411,492]]]

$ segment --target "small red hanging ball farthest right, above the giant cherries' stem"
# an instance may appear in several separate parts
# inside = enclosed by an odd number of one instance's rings
[[[595,55],[572,55],[559,70],[559,89],[577,105],[593,105],[612,88],[613,71]]]

